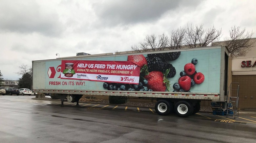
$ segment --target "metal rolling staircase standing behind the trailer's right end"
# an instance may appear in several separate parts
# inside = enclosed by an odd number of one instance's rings
[[[239,83],[238,82],[230,83],[228,92],[229,91],[230,91],[230,96],[227,99],[227,105],[226,105],[227,114],[226,114],[226,117],[228,117],[230,115],[232,115],[232,116],[234,115],[235,119],[236,119],[236,117],[238,118],[238,116],[239,116],[239,110],[238,110]]]

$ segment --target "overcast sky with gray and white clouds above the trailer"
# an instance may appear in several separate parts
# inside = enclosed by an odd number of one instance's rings
[[[0,71],[18,80],[19,66],[32,60],[130,51],[146,35],[170,35],[187,24],[222,28],[222,38],[234,25],[255,32],[255,6],[255,0],[0,0]]]

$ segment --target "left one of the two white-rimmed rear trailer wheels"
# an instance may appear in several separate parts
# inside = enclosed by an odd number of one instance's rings
[[[165,115],[170,114],[170,112],[173,110],[173,105],[172,105],[172,103],[169,103],[166,100],[159,100],[155,104],[155,110],[156,110],[157,114],[165,116]]]

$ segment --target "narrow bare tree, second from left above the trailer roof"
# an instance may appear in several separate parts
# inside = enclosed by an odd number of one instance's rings
[[[185,34],[186,29],[182,27],[172,30],[168,49],[180,49],[185,44]]]

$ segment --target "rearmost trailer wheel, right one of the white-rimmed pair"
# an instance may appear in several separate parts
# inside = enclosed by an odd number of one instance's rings
[[[188,117],[193,113],[194,107],[186,101],[179,101],[175,104],[175,112],[179,117]]]

